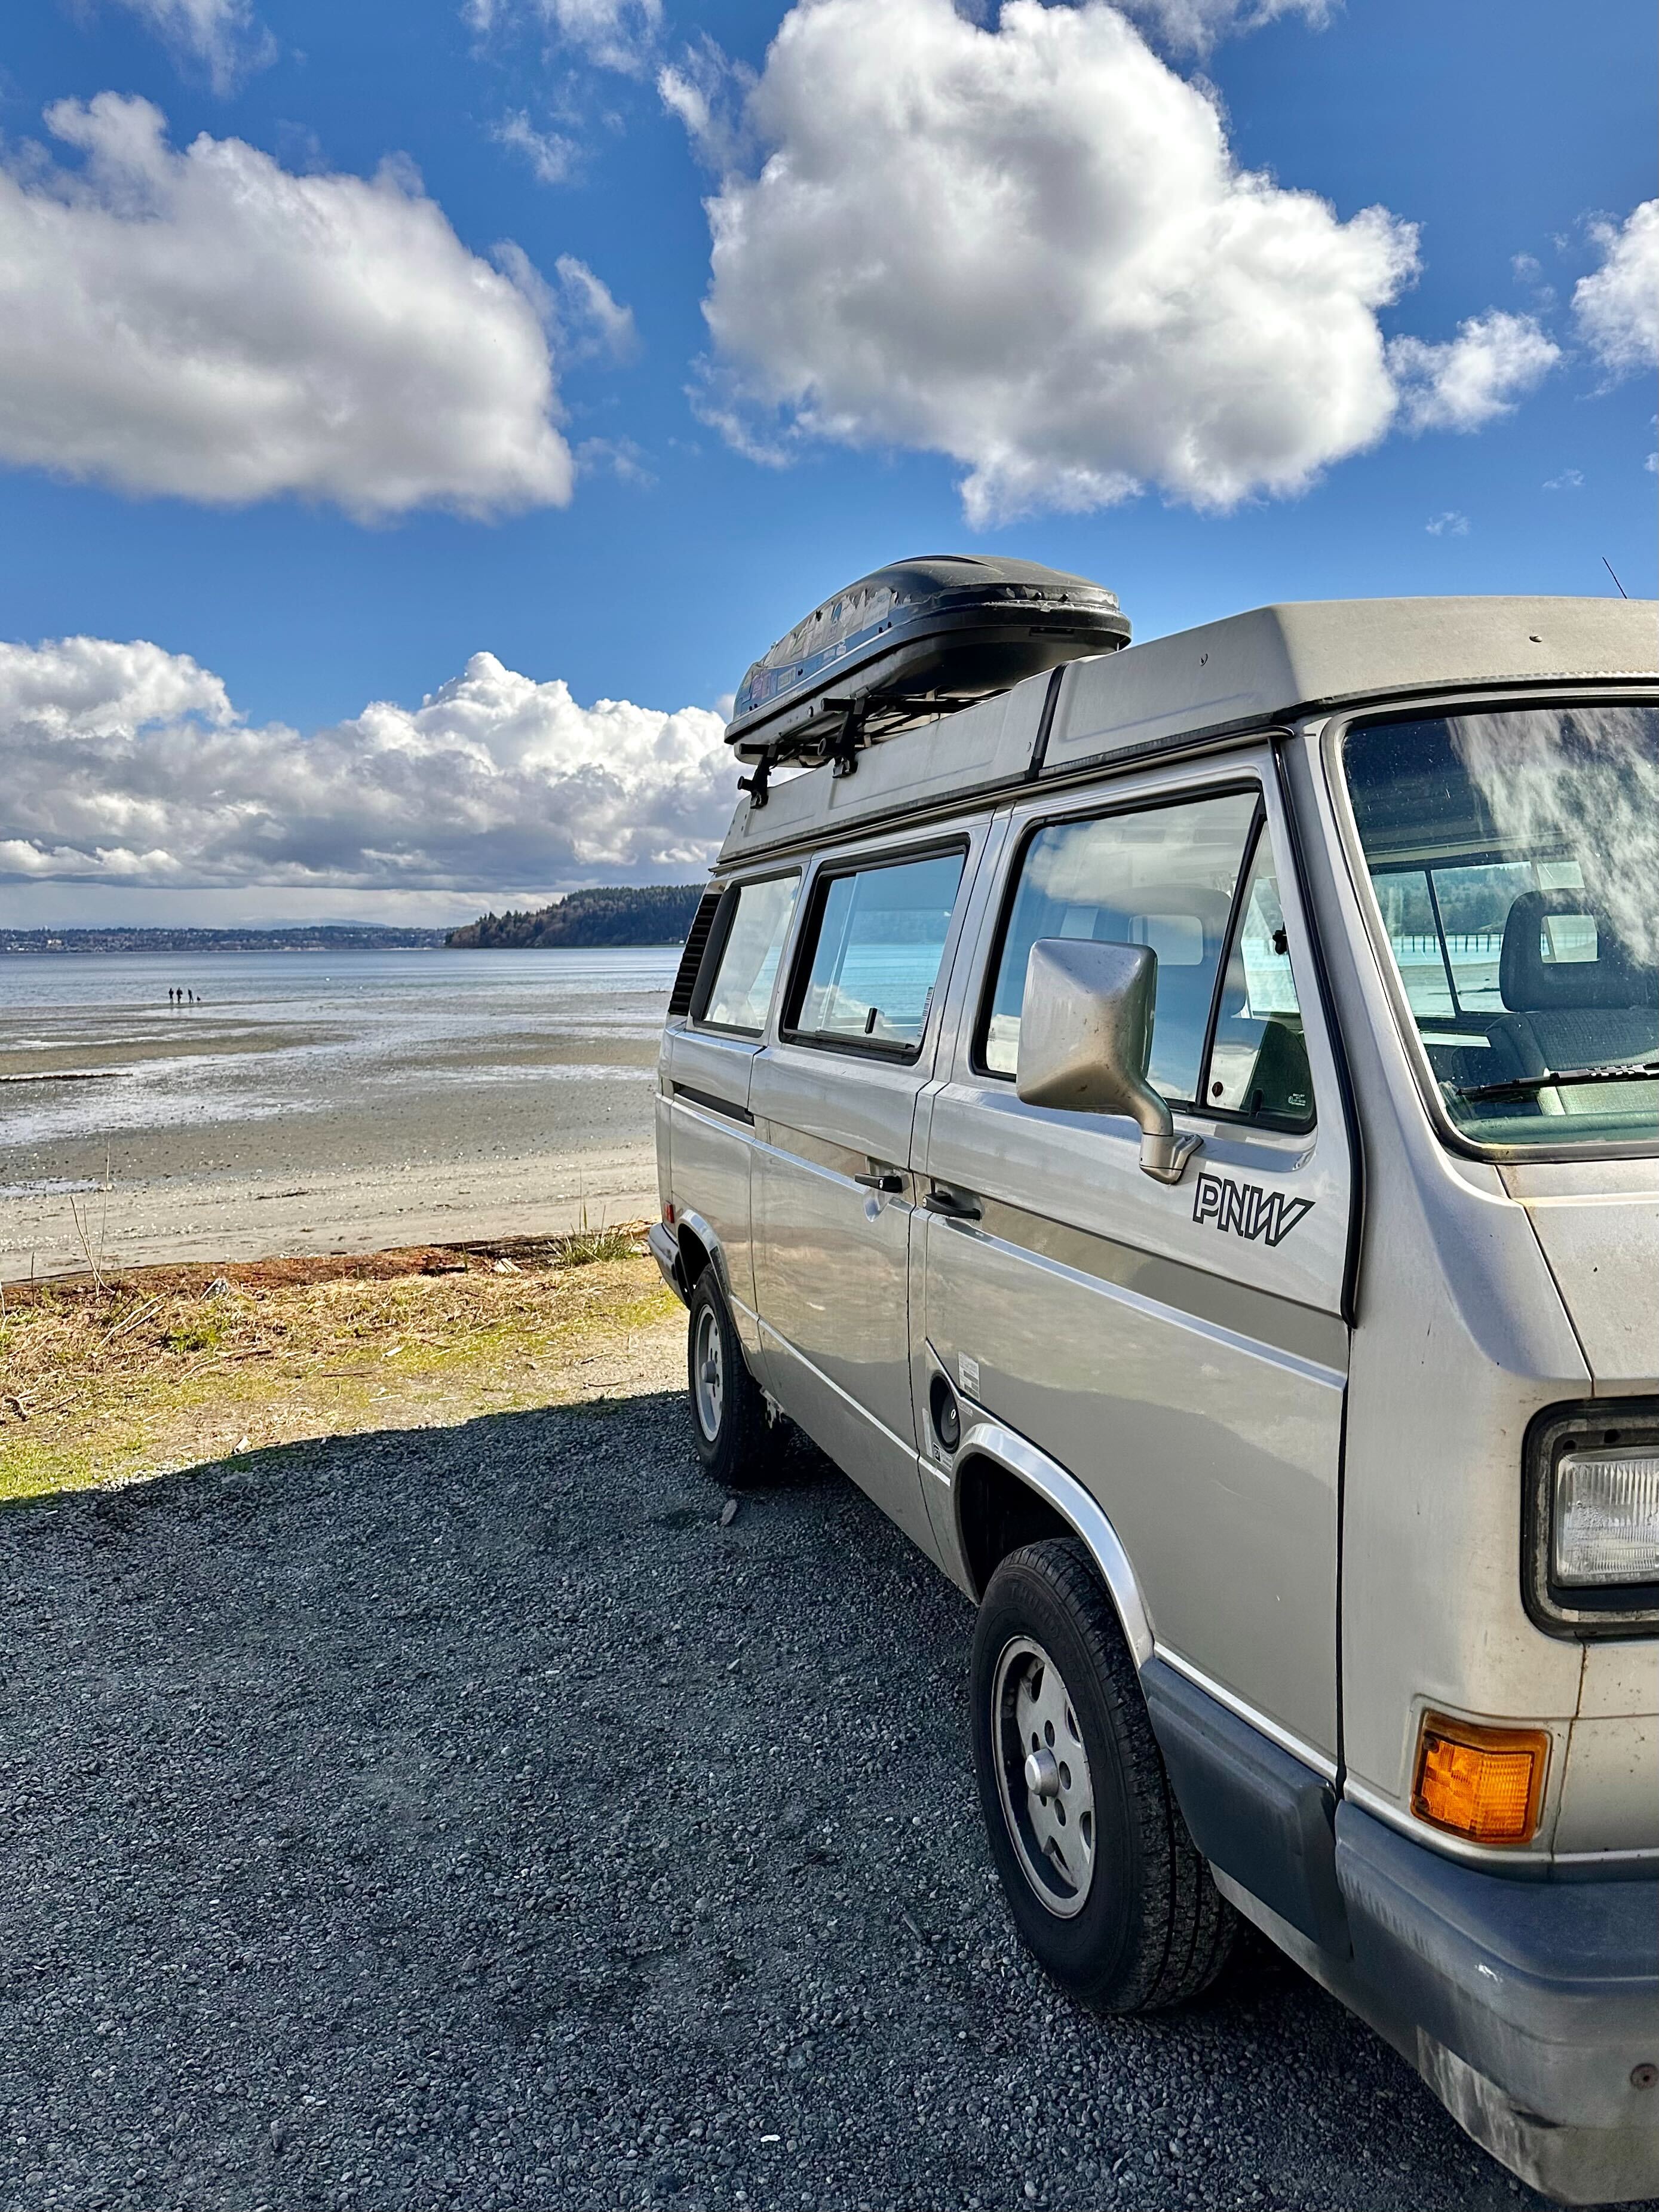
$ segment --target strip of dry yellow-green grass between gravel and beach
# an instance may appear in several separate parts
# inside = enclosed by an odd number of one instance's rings
[[[637,1228],[13,1285],[0,1500],[604,1396],[677,1316]]]

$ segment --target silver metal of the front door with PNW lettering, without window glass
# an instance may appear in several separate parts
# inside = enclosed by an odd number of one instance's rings
[[[987,902],[951,1079],[931,1099],[927,1181],[978,1221],[922,1217],[933,1354],[969,1400],[1066,1467],[1099,1502],[1146,1593],[1152,1635],[1334,1767],[1340,1318],[1349,1164],[1329,1044],[1270,761],[1119,776],[1071,812],[1201,796],[1261,776],[1292,922],[1318,1126],[1252,1128],[1177,1110],[1203,1150],[1175,1188],[1139,1168],[1121,1117],[1020,1102],[973,1073],[973,1002],[995,942]]]

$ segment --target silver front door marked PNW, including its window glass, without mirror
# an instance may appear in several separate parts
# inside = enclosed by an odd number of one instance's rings
[[[1068,936],[1157,953],[1150,1079],[1203,1139],[1177,1186],[1128,1119],[1015,1095],[1031,945]],[[1175,1666],[1332,1767],[1349,1157],[1267,750],[1020,810],[987,938],[931,1102],[962,1212],[922,1217],[922,1360],[969,1440],[984,1407],[1099,1500]]]

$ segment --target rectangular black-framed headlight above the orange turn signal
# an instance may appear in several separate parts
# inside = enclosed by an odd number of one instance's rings
[[[1659,1628],[1659,1402],[1608,1398],[1533,1422],[1524,1548],[1540,1628]]]

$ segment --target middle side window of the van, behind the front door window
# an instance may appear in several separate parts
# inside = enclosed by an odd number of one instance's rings
[[[787,1035],[920,1051],[964,860],[956,849],[821,876]]]

